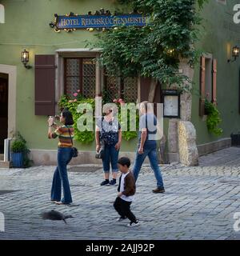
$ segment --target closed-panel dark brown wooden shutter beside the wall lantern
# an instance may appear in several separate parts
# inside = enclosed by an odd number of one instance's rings
[[[35,55],[35,115],[55,114],[55,56]]]

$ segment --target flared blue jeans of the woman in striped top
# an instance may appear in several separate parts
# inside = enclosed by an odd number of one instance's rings
[[[54,179],[51,189],[51,200],[60,201],[63,188],[62,203],[70,203],[72,201],[70,185],[67,177],[66,166],[72,158],[72,148],[58,148],[58,166],[54,172]]]

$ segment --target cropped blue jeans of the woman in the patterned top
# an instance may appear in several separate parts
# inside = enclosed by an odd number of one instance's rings
[[[103,171],[105,173],[110,172],[110,163],[112,166],[112,172],[118,172],[118,154],[119,150],[115,149],[115,145],[104,146],[104,157],[102,158]]]

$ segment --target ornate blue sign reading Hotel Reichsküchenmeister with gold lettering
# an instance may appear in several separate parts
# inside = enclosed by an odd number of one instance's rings
[[[50,27],[54,28],[55,32],[65,30],[71,32],[74,30],[86,29],[89,31],[106,30],[118,26],[146,26],[149,22],[149,17],[143,14],[110,14],[101,9],[95,14],[89,12],[87,15],[78,15],[70,12],[70,14],[58,15],[54,14],[54,22],[50,22]]]

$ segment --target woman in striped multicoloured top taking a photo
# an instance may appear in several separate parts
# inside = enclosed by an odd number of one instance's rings
[[[51,189],[51,201],[56,204],[69,205],[72,201],[70,184],[67,176],[66,166],[70,162],[72,154],[72,140],[74,133],[74,120],[69,110],[62,110],[60,122],[63,126],[54,124],[54,118],[48,119],[48,138],[57,138],[58,142],[58,166],[54,172],[54,179]],[[54,127],[54,131],[52,131]],[[61,192],[63,188],[63,198],[61,201]]]

